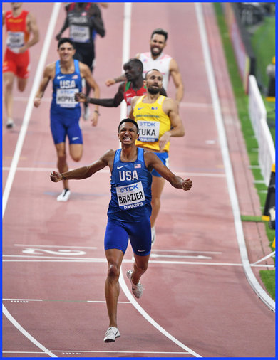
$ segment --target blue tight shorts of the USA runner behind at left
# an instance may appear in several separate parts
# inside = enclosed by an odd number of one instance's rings
[[[79,125],[79,118],[81,116],[80,109],[74,111],[55,112],[51,110],[51,133],[54,144],[68,141],[70,144],[83,144],[83,137]]]

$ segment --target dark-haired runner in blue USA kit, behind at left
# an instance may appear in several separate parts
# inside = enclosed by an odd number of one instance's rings
[[[99,97],[99,88],[91,76],[86,64],[73,59],[75,48],[70,38],[61,38],[58,41],[58,55],[60,60],[50,63],[43,71],[43,79],[34,99],[34,106],[41,105],[41,98],[50,80],[53,81],[51,102],[51,132],[58,157],[58,170],[68,171],[66,163],[66,136],[69,141],[69,152],[75,162],[79,162],[83,153],[82,132],[79,126],[81,107],[74,100],[74,94],[82,89],[82,79],[93,88],[95,97]],[[98,122],[98,106],[96,105],[93,125]],[[63,181],[63,192],[57,201],[68,201],[71,191],[68,181]]]

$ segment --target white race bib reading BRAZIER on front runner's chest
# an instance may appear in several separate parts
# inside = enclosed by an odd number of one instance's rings
[[[145,204],[145,193],[141,181],[135,184],[118,186],[116,191],[118,204],[122,210],[138,208]]]

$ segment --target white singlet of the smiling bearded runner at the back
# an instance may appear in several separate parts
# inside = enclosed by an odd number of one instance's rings
[[[149,53],[140,53],[139,60],[143,63],[143,74],[148,73],[152,69],[158,69],[163,75],[163,88],[167,90],[169,77],[170,77],[170,61],[172,58],[170,55],[162,53],[155,60],[152,58],[152,54]]]

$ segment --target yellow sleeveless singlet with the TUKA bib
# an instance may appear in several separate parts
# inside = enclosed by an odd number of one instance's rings
[[[160,95],[152,104],[143,102],[141,96],[134,107],[133,116],[139,127],[139,139],[136,146],[146,147],[155,152],[159,152],[159,139],[171,128],[170,118],[163,111],[163,101],[165,96]],[[163,151],[169,151],[170,142],[168,142]]]

